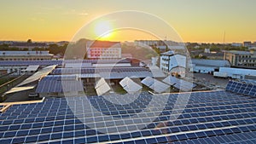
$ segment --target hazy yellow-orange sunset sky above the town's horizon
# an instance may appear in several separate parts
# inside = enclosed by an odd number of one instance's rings
[[[0,40],[26,41],[31,38],[32,41],[71,41],[91,20],[116,11],[133,10],[154,14],[166,21],[184,42],[254,42],[255,5],[255,0],[2,0]],[[137,19],[140,20],[143,17]],[[119,21],[125,21],[125,17],[120,16]],[[106,21],[99,23],[96,25],[106,24]],[[105,28],[115,28],[114,25]],[[145,29],[150,29],[158,27],[158,22],[143,25]],[[96,33],[101,30],[92,29],[90,31]],[[166,39],[172,37],[168,32],[160,35]],[[113,32],[108,40],[132,41],[144,38],[154,39],[146,32],[125,30]]]

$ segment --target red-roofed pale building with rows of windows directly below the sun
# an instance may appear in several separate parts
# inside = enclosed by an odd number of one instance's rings
[[[90,60],[117,60],[122,57],[120,42],[91,41],[86,44],[86,49]]]

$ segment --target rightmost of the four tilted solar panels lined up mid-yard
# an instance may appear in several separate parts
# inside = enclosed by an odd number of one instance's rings
[[[163,82],[166,84],[172,85],[176,89],[181,89],[183,91],[191,91],[193,88],[196,87],[196,84],[190,83],[180,78],[168,76],[166,77]]]

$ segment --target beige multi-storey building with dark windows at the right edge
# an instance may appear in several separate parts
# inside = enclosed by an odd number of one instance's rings
[[[250,67],[256,66],[256,52],[230,50],[224,52],[224,60],[229,60],[231,66]]]

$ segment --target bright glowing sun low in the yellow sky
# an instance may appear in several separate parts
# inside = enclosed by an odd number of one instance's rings
[[[109,21],[100,21],[95,26],[96,37],[102,40],[108,40],[112,36],[112,29]]]

